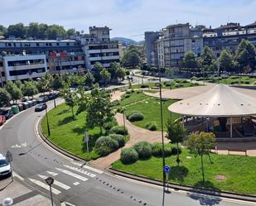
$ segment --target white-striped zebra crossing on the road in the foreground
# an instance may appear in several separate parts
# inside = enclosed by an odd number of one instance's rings
[[[90,167],[88,165],[84,165],[83,168],[80,166],[82,164],[77,162],[71,162],[73,165],[62,165],[60,167],[53,168],[52,170],[46,170],[41,174],[37,174],[32,176],[31,178],[27,178],[27,180],[31,181],[36,186],[41,189],[50,190],[48,184],[46,184],[46,178],[48,176],[54,177],[54,183],[51,186],[51,190],[53,194],[61,194],[61,191],[72,189],[72,187],[78,186],[79,184],[85,183],[85,181],[90,178],[95,178],[97,175],[102,174],[103,171]],[[64,182],[65,178],[63,175],[69,176],[69,182]],[[60,178],[62,176],[62,178]],[[71,178],[70,178],[71,177]],[[62,180],[62,182],[61,182]],[[72,183],[70,183],[70,181]]]

